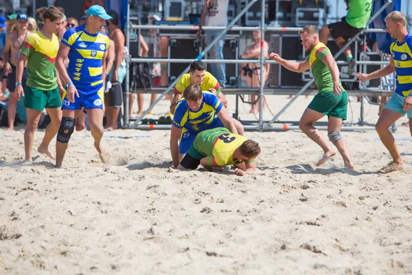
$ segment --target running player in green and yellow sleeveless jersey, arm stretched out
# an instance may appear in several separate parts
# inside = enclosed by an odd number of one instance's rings
[[[305,50],[310,52],[305,61],[301,63],[286,61],[275,53],[271,53],[270,57],[293,72],[300,73],[312,69],[319,93],[314,96],[312,102],[304,111],[299,121],[299,128],[323,149],[323,156],[316,165],[320,166],[330,157],[336,155],[336,150],[326,142],[321,132],[313,126],[314,122],[328,115],[329,140],[341,153],[345,167],[353,170],[354,164],[350,161],[349,150],[341,133],[343,120],[346,120],[347,93],[341,85],[338,66],[328,47],[319,42],[319,32],[316,27],[308,25],[299,30],[298,33],[301,36]]]

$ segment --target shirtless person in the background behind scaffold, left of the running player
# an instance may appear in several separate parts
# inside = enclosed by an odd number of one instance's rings
[[[263,51],[264,51],[264,58],[269,58],[268,54],[268,43],[264,41],[263,43]],[[246,46],[242,54],[242,58],[244,59],[252,59],[252,58],[260,58],[260,30],[253,31],[253,42]],[[260,87],[260,65],[258,63],[248,63],[242,64],[242,69],[244,70],[244,75],[246,76],[247,85],[249,87]],[[263,83],[266,83],[266,80],[269,76],[269,70],[271,69],[271,65],[266,63],[264,67],[264,78]],[[255,112],[255,109],[259,110],[259,103],[257,96],[251,96],[251,102],[255,102],[252,104],[251,113]],[[264,107],[264,103],[263,103]]]

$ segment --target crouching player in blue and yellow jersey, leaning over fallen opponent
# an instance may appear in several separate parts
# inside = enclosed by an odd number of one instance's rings
[[[179,165],[181,158],[189,151],[194,138],[201,131],[226,127],[231,133],[238,134],[233,118],[230,118],[217,96],[203,92],[199,85],[189,85],[183,96],[185,99],[176,107],[170,134],[170,152],[174,167]]]

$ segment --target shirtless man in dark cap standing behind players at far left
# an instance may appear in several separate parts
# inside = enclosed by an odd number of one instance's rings
[[[8,131],[12,131],[14,129],[14,120],[16,118],[16,104],[17,104],[17,97],[14,94],[14,90],[16,89],[16,65],[17,61],[19,60],[19,53],[21,47],[23,47],[23,43],[27,36],[31,34],[28,31],[29,21],[27,20],[27,14],[19,13],[16,17],[17,26],[16,31],[8,34],[5,38],[5,47],[3,52],[3,60],[5,63],[5,72],[8,73],[8,89],[10,91],[10,101],[8,107]],[[9,53],[11,51],[11,58],[9,61]],[[27,80],[27,61],[24,64],[23,70],[23,78],[22,78],[22,85],[23,89],[25,87],[25,83]]]

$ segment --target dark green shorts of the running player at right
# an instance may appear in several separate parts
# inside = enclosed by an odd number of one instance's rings
[[[340,96],[335,96],[332,91],[319,92],[310,102],[308,109],[346,120],[347,92],[343,91]]]

